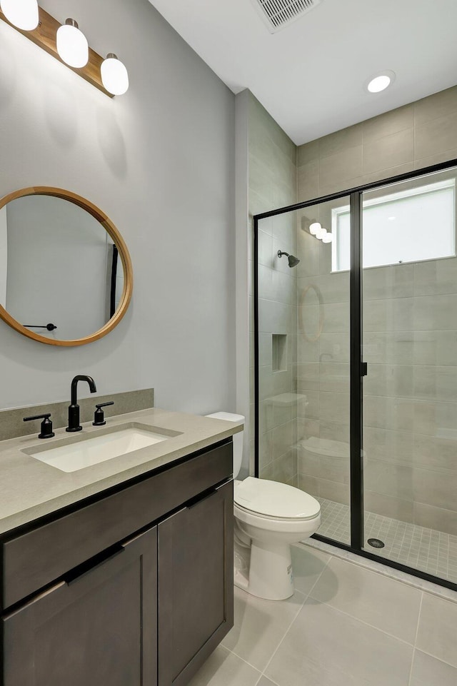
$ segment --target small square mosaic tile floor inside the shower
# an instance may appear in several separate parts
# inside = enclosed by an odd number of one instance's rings
[[[349,543],[348,505],[324,498],[318,500],[322,513],[318,533]],[[368,538],[378,538],[385,543],[385,548],[379,549],[366,545],[371,553],[457,583],[457,536],[366,512],[365,540]]]

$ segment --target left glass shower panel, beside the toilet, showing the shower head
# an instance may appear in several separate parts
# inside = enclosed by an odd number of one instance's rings
[[[348,196],[258,220],[258,475],[317,498],[318,533],[349,544],[350,262],[331,241],[341,208],[346,250]]]

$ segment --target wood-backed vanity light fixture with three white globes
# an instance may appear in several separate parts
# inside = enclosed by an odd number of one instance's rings
[[[0,0],[0,19],[110,98],[129,88],[124,64],[113,53],[104,60],[92,50],[74,19],[62,26],[36,0]]]

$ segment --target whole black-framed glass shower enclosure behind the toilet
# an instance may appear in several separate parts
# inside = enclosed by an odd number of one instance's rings
[[[456,178],[254,217],[256,475],[319,500],[316,538],[454,590]]]

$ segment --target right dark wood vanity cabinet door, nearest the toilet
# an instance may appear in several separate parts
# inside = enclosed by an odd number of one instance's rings
[[[233,626],[233,482],[159,524],[159,686],[184,686]]]

